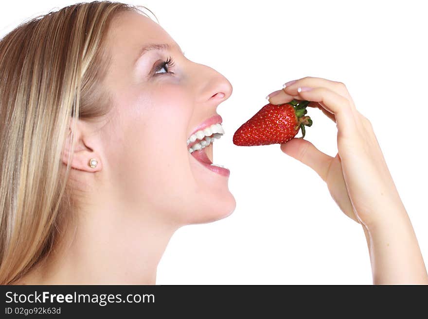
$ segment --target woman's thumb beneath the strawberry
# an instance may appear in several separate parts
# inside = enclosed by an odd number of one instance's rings
[[[333,157],[318,150],[311,142],[302,138],[293,138],[281,144],[281,151],[315,170],[323,181],[327,178]]]

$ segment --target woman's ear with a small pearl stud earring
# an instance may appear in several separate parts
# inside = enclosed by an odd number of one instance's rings
[[[96,151],[97,148],[99,149],[99,145],[97,145],[98,140],[93,139],[94,136],[91,136],[89,134],[90,132],[91,130],[89,123],[84,123],[78,119],[76,121],[73,141],[71,141],[71,125],[69,126],[69,132],[67,134],[64,149],[61,154],[61,160],[66,166],[68,164],[69,155],[71,152],[71,142],[73,142],[73,156],[70,158],[71,168],[87,172],[96,172],[102,169],[101,156]],[[89,165],[91,160],[96,161],[96,166],[94,168]],[[95,164],[94,161],[92,161],[91,164]]]

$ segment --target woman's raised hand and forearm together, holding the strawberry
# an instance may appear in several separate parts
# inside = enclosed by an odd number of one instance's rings
[[[269,95],[271,104],[311,101],[338,128],[338,154],[294,138],[281,150],[313,168],[340,209],[361,223],[375,284],[428,284],[419,245],[370,121],[357,111],[345,84],[305,77]]]

